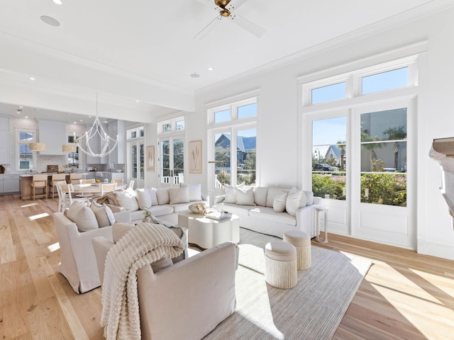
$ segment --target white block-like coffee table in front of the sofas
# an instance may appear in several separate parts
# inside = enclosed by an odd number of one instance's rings
[[[178,214],[178,225],[189,229],[189,243],[201,249],[209,249],[227,241],[240,242],[240,218],[237,215],[218,221],[187,210]]]

